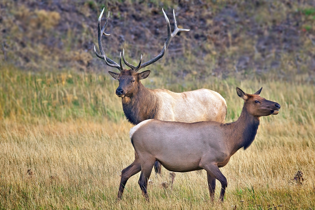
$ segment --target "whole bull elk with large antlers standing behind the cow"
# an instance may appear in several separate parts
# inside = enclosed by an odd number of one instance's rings
[[[94,51],[97,57],[104,59],[108,66],[115,67],[120,71],[120,73],[108,73],[119,81],[116,95],[122,97],[123,112],[127,120],[134,125],[148,119],[178,122],[198,122],[205,120],[224,122],[226,116],[226,101],[219,93],[213,90],[199,89],[175,93],[165,89],[151,90],[141,84],[140,80],[147,78],[150,74],[150,70],[141,73],[138,73],[138,71],[163,57],[171,40],[178,32],[189,31],[188,29],[177,27],[175,12],[173,10],[175,29],[171,33],[169,19],[163,9],[162,11],[167,23],[168,32],[163,49],[155,58],[142,64],[141,55],[138,66],[133,66],[126,61],[123,50],[123,61],[130,68],[129,70],[123,68],[121,52],[119,65],[108,58],[104,52],[101,37],[103,34],[106,36],[110,35],[104,32],[109,19],[109,12],[103,28],[101,28],[100,20],[104,9],[98,19],[98,45],[101,55],[96,52],[95,46]],[[155,165],[156,172],[160,173],[160,169],[161,166],[157,162]]]

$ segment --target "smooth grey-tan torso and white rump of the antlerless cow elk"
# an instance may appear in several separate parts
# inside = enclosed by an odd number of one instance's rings
[[[130,130],[140,162],[142,158],[157,159],[174,172],[200,170],[204,162],[225,166],[239,149],[234,149],[230,142],[220,141],[229,136],[224,124],[215,121],[179,123],[152,119]],[[240,139],[235,139],[235,143],[238,141]]]

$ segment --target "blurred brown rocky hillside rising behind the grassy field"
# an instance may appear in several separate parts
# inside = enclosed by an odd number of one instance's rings
[[[315,1],[303,0],[2,0],[1,62],[34,71],[112,69],[93,50],[103,7],[102,23],[111,12],[103,46],[116,62],[123,48],[134,65],[141,54],[156,56],[167,37],[162,8],[171,26],[174,8],[178,25],[191,31],[150,66],[156,74],[315,80]]]

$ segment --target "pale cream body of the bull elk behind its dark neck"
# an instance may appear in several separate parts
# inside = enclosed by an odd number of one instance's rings
[[[156,119],[177,122],[213,120],[224,122],[226,101],[217,92],[199,89],[175,93],[166,89],[153,90],[158,96]]]

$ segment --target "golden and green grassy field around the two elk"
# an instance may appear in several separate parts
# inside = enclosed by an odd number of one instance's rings
[[[118,82],[94,73],[0,71],[1,209],[315,209],[315,88],[295,82],[233,79],[165,82],[143,80],[149,88],[172,91],[209,88],[227,102],[226,122],[238,118],[238,86],[281,105],[261,118],[249,149],[238,151],[221,169],[228,180],[225,202],[209,201],[206,173],[169,172],[141,195],[139,174],[116,202],[120,171],[134,159],[132,127],[124,119]],[[297,79],[298,80],[298,79]],[[302,180],[295,181],[297,171]],[[301,183],[301,184],[300,184]],[[167,184],[166,184],[167,185]],[[164,184],[165,186],[165,184]]]

